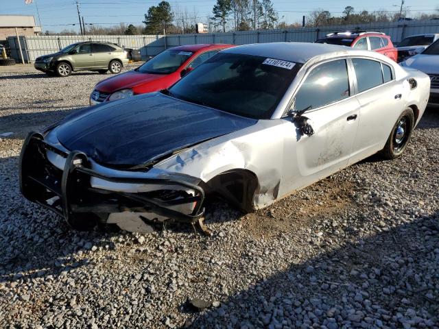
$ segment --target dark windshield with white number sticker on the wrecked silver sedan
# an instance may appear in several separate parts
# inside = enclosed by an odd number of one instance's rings
[[[253,119],[270,119],[299,64],[219,53],[169,89],[173,97]]]

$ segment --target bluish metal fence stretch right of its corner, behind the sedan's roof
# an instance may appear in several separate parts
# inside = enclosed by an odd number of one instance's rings
[[[439,33],[439,21],[410,21],[392,23],[368,23],[357,25],[331,25],[296,29],[272,29],[211,34],[180,34],[166,37],[167,47],[193,45],[197,43],[230,43],[246,45],[259,42],[314,42],[335,31],[379,31],[400,42],[407,36],[424,33]]]

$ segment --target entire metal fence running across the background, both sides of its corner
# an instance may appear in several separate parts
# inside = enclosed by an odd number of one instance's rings
[[[357,25],[331,25],[296,29],[272,29],[264,31],[226,32],[211,34],[180,34],[166,36],[21,36],[20,45],[25,62],[33,62],[38,56],[59,51],[67,45],[80,41],[113,42],[121,47],[140,49],[143,58],[180,45],[198,43],[230,43],[246,45],[263,42],[314,42],[334,31],[380,31],[388,34],[393,42],[406,36],[439,33],[439,21],[409,21],[392,23],[369,23]],[[11,57],[21,60],[16,36],[8,37]]]

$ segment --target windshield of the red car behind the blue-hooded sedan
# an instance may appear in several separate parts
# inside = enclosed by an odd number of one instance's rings
[[[139,67],[137,71],[141,73],[169,74],[177,69],[192,56],[191,51],[166,50],[159,53],[154,58],[148,60]]]

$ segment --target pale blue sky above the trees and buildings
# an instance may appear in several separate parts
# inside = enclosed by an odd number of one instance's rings
[[[143,14],[152,5],[160,1],[152,0],[78,0],[80,14],[85,23],[110,26],[119,23],[141,25]],[[207,22],[212,15],[212,8],[216,0],[168,0],[172,7],[187,8],[188,12],[195,12],[198,21]],[[353,6],[355,12],[362,10],[388,10],[399,12],[401,0],[272,0],[274,9],[278,11],[281,21],[296,23],[302,21],[302,15],[322,8],[329,10],[333,15],[340,15],[347,5]],[[361,3],[361,4],[360,4]],[[405,0],[410,14],[417,12],[434,13],[439,8],[437,0]],[[60,32],[62,29],[78,29],[78,12],[75,0],[34,0],[32,4],[25,4],[25,0],[0,0],[0,14],[34,15],[37,25],[38,14],[43,31]],[[195,16],[193,14],[192,16]],[[283,16],[283,17],[282,17]],[[76,24],[73,26],[72,24]]]

